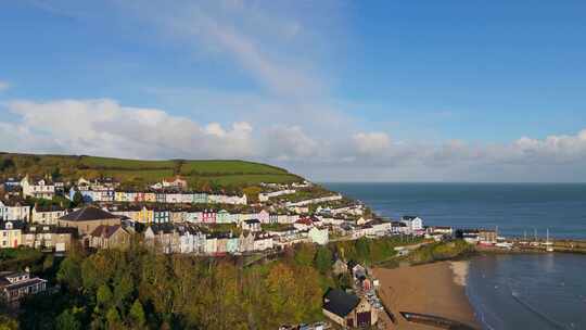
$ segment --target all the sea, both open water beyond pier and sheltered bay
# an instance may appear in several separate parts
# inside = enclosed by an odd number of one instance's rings
[[[322,185],[391,219],[586,239],[586,183]],[[586,329],[586,255],[476,256],[466,290],[483,329]]]

